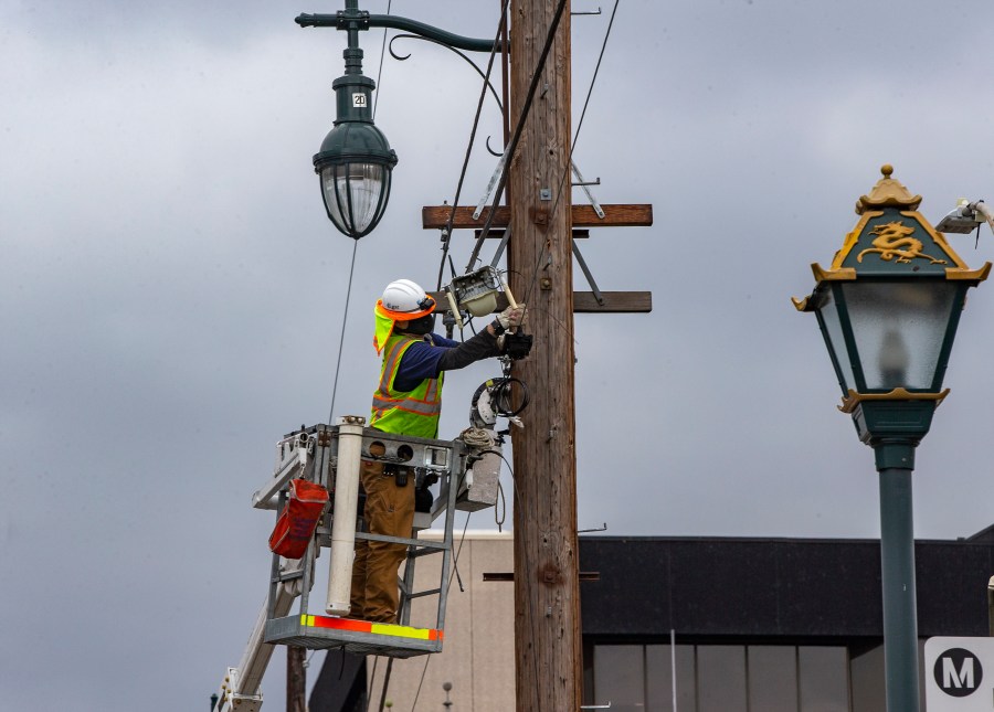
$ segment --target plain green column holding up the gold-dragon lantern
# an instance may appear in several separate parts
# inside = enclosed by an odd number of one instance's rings
[[[880,567],[884,584],[884,666],[887,711],[920,709],[914,528],[911,510],[913,440],[874,445],[880,474]]]

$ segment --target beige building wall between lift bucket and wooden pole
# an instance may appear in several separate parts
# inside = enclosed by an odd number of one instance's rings
[[[422,532],[421,536],[441,538],[433,532]],[[442,686],[445,682],[452,682],[448,693],[452,712],[515,709],[515,585],[483,580],[484,573],[514,571],[511,534],[468,531],[462,550],[459,538],[461,532],[456,532],[454,549],[458,552],[456,565],[465,591],[459,591],[459,582],[453,574],[442,652],[393,661],[387,700],[393,703],[389,709],[394,711],[444,711]],[[441,564],[441,554],[419,560],[415,570],[417,591],[438,586]],[[431,596],[415,601],[411,624],[431,627],[436,605]],[[387,662],[387,658],[374,657],[367,661],[371,710],[379,709]]]

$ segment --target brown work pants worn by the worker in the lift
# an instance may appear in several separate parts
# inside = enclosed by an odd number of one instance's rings
[[[369,533],[410,538],[414,524],[414,472],[408,476],[405,487],[398,487],[392,474],[383,474],[383,463],[362,460],[360,478],[366,489],[363,516]],[[405,544],[356,540],[349,617],[396,623],[396,573],[406,555]]]

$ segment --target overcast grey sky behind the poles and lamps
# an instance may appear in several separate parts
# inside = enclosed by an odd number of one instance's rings
[[[352,243],[310,164],[345,39],[293,22],[340,7],[0,0],[4,710],[207,709],[241,657],[273,524],[250,496],[283,433],[327,421],[346,316]],[[491,36],[498,7],[391,11]],[[573,22],[574,120],[612,3],[573,1],[598,7]],[[789,297],[831,264],[882,163],[933,223],[960,196],[994,199],[992,14],[983,0],[623,0],[574,159],[601,202],[652,203],[655,225],[592,231],[583,251],[603,289],[652,290],[654,310],[577,318],[581,527],[879,534],[873,453]],[[382,36],[361,40],[370,76]],[[420,209],[453,199],[476,107],[454,55],[400,49],[412,57],[383,63],[377,109],[400,163],[358,245],[336,415],[368,412],[384,281],[435,280]],[[499,136],[493,103],[482,132]],[[495,160],[475,151],[464,203]],[[976,251],[951,241],[971,266],[994,258],[986,227]],[[919,449],[921,538],[994,523],[992,346],[982,285]],[[448,380],[443,434],[496,373]]]

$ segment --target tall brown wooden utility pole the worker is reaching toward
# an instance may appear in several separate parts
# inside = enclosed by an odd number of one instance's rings
[[[558,0],[511,0],[510,116],[527,100]],[[518,712],[578,712],[582,699],[577,449],[573,406],[573,255],[570,174],[570,3],[516,155],[508,269],[527,295],[531,355],[526,426],[514,433],[515,647]]]

